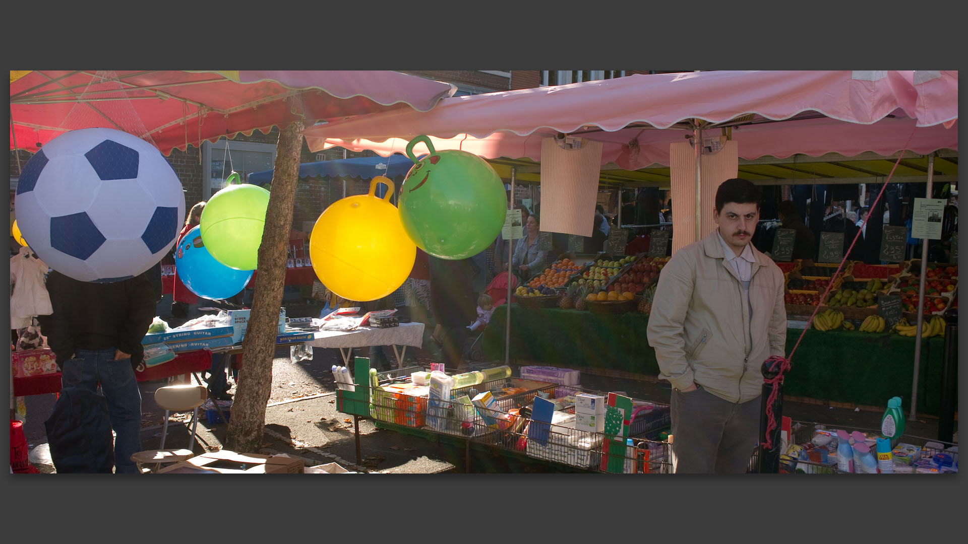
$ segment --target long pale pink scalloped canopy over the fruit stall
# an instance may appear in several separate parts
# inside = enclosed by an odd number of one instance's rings
[[[703,72],[637,75],[441,100],[310,127],[311,150],[342,146],[387,156],[410,138],[485,158],[540,161],[559,133],[603,142],[602,164],[669,165],[669,144],[702,119],[732,126],[740,156],[890,155],[957,149],[957,72]],[[783,121],[783,122],[777,122]],[[719,131],[716,131],[718,133]],[[635,141],[630,147],[630,142]]]

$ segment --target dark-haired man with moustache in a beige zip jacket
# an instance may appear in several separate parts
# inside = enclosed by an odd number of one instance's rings
[[[783,273],[750,244],[761,192],[716,190],[719,226],[669,259],[649,317],[660,379],[672,383],[676,472],[744,472],[759,441],[761,366],[784,355]]]

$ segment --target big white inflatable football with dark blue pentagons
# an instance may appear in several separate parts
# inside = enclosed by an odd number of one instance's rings
[[[16,186],[17,225],[30,248],[82,282],[117,282],[165,257],[185,220],[185,194],[165,157],[112,129],[47,142]]]

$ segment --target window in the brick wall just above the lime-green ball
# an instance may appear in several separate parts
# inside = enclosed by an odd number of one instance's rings
[[[220,139],[201,145],[201,197],[205,200],[225,187],[234,169],[244,180],[252,172],[271,170],[276,164],[276,146]]]

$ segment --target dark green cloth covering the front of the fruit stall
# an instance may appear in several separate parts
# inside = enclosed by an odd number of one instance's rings
[[[507,307],[495,309],[481,345],[484,358],[503,360]],[[649,317],[637,312],[598,316],[589,311],[527,310],[511,305],[511,359],[534,364],[620,370],[657,376],[655,350],[649,346]],[[787,353],[802,329],[787,330]],[[783,393],[787,396],[887,407],[901,397],[910,410],[915,339],[897,334],[810,329],[792,359]],[[923,339],[918,378],[918,412],[941,408],[943,337]]]

